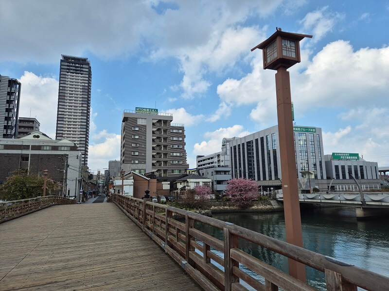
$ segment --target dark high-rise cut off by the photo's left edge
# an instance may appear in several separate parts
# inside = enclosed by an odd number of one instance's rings
[[[20,82],[0,75],[0,138],[18,136]]]

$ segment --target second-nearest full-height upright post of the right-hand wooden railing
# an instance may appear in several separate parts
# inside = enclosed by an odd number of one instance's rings
[[[239,278],[233,274],[233,267],[239,268],[239,263],[231,259],[231,249],[238,248],[238,237],[230,233],[230,226],[233,224],[226,222],[224,231],[224,290],[231,291],[231,284],[239,282]]]

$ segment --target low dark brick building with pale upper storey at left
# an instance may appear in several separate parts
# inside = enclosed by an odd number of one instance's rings
[[[74,196],[80,189],[81,159],[77,146],[69,140],[53,140],[40,131],[18,138],[0,138],[0,183],[18,169],[49,178],[61,189],[58,193]]]

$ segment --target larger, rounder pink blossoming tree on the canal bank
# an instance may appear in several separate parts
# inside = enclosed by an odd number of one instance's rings
[[[241,208],[247,208],[250,201],[258,198],[258,185],[254,180],[238,178],[227,181],[224,194]]]

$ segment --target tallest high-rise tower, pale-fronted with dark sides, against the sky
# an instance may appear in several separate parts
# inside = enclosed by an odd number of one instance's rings
[[[62,55],[55,139],[75,143],[84,165],[88,164],[91,83],[88,58]]]

